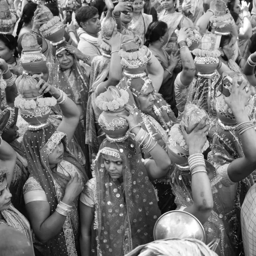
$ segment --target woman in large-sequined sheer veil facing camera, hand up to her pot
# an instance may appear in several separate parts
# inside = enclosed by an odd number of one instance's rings
[[[106,130],[108,137],[93,163],[95,177],[87,182],[80,197],[81,252],[84,256],[91,254],[92,224],[97,241],[97,248],[92,251],[100,256],[122,256],[138,245],[153,241],[153,227],[160,216],[150,180],[166,175],[171,162],[166,151],[139,127],[137,111],[130,105],[125,109],[130,114],[123,109],[115,120],[128,122],[134,140],[126,137],[115,142],[122,137],[113,137],[111,131]],[[115,114],[115,111],[107,111],[109,113]],[[150,148],[152,160],[144,161],[137,145],[144,137],[143,145]]]

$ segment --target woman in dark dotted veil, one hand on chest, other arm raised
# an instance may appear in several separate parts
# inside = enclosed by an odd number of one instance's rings
[[[87,180],[83,167],[67,148],[80,113],[67,95],[38,82],[38,93],[49,92],[59,104],[63,119],[57,131],[44,125],[26,131],[24,151],[30,177],[24,186],[24,199],[35,233],[35,246],[43,256],[80,255],[79,195]],[[47,123],[46,123],[47,124]]]

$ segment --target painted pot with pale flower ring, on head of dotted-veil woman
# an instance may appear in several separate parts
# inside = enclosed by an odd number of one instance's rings
[[[43,95],[35,99],[25,99],[22,95],[15,98],[14,105],[20,109],[21,117],[30,125],[40,125],[47,121],[51,107],[57,104],[53,97],[44,98]]]

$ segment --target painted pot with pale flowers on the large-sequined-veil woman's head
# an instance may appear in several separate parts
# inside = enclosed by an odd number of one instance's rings
[[[102,130],[111,138],[127,138],[129,129],[128,122],[119,115],[128,116],[124,105],[129,100],[127,91],[117,89],[114,86],[108,87],[105,93],[96,98],[96,105],[103,110],[99,116],[99,125]]]

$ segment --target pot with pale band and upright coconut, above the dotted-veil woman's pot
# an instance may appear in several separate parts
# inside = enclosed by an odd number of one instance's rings
[[[26,33],[23,35],[22,53],[20,56],[20,63],[24,70],[32,72],[33,74],[40,74],[42,70],[46,70],[46,57],[38,45],[35,34]]]

